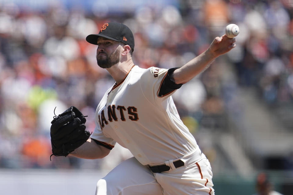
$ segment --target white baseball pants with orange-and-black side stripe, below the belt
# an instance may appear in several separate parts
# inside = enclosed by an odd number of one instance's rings
[[[153,173],[136,158],[129,158],[99,179],[96,195],[214,195],[212,169],[206,156],[202,154],[197,161],[193,154],[180,159],[184,166],[170,165],[169,171]]]

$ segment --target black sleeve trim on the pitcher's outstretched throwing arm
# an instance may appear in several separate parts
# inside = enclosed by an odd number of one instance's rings
[[[159,90],[157,91],[157,96],[159,98],[164,97],[168,94],[171,94],[173,91],[175,91],[176,89],[179,89],[183,85],[183,84],[176,84],[171,79],[171,75],[178,68],[179,67],[168,69],[168,72],[166,73],[164,79],[161,82]]]

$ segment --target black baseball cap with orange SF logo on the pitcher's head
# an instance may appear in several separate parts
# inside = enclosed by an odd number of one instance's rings
[[[99,37],[105,37],[113,41],[120,41],[125,43],[134,50],[134,37],[131,30],[122,23],[109,22],[105,23],[99,34],[90,34],[85,39],[91,44],[97,45],[97,40]]]

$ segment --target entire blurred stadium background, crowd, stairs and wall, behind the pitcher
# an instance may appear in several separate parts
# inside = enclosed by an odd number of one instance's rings
[[[96,182],[131,154],[52,157],[50,122],[71,105],[94,129],[94,112],[113,80],[85,37],[125,23],[143,68],[171,68],[199,55],[229,23],[237,47],[173,96],[208,156],[220,194],[255,193],[267,172],[293,191],[292,0],[0,0],[0,193],[93,194]]]

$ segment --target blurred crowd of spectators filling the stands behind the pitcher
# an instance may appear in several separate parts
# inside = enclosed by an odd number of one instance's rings
[[[174,1],[172,1],[174,2]],[[81,167],[51,154],[50,122],[74,105],[95,128],[94,113],[114,84],[85,41],[104,23],[126,24],[135,37],[133,61],[142,68],[182,66],[208,48],[229,23],[240,27],[237,47],[182,86],[174,100],[197,137],[201,127],[225,130],[237,111],[238,87],[255,87],[268,105],[292,102],[293,3],[288,1],[182,0],[115,10],[52,3],[35,10],[0,5],[0,167]],[[290,1],[289,1],[290,2]],[[97,162],[97,164],[99,164]],[[99,165],[94,165],[99,166]]]

